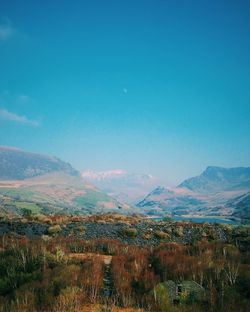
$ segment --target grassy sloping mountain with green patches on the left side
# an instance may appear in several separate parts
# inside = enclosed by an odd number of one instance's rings
[[[56,157],[0,147],[0,212],[95,213],[126,209]]]

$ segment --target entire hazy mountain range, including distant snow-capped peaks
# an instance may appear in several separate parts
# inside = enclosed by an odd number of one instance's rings
[[[151,175],[124,170],[80,173],[57,157],[0,146],[2,213],[21,214],[24,208],[70,214],[119,210],[250,220],[249,167],[209,166],[175,188],[158,183]]]

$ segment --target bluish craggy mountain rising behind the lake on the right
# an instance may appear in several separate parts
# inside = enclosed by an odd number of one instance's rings
[[[250,219],[250,168],[209,166],[176,188],[157,187],[137,207],[149,214]]]

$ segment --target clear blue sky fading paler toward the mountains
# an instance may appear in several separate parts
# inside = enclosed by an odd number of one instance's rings
[[[250,1],[0,0],[0,144],[176,184],[250,166]]]

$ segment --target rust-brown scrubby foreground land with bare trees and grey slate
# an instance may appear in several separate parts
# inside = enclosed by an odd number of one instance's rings
[[[3,217],[0,311],[248,311],[249,227]]]

